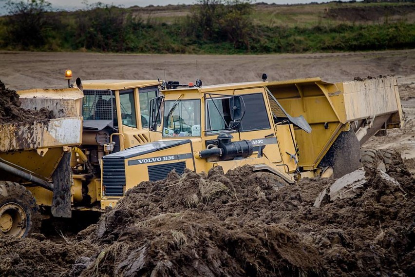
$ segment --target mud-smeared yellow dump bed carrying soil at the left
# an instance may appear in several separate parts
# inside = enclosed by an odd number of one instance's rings
[[[21,108],[47,108],[55,119],[0,124],[0,162],[48,180],[65,152],[64,146],[80,145],[82,117],[78,89],[19,91]],[[10,174],[4,180],[19,181]]]

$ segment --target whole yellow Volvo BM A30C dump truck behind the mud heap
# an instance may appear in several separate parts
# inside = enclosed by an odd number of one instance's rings
[[[359,167],[364,141],[403,122],[391,76],[200,84],[165,89],[151,101],[150,126],[163,119],[161,140],[102,158],[102,208],[173,169],[181,174],[222,166],[226,172],[248,164],[288,184],[339,178]]]

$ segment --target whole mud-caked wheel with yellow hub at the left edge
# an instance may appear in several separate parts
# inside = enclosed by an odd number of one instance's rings
[[[27,237],[40,230],[39,206],[18,183],[0,181],[0,236]]]

